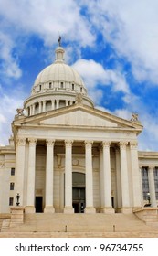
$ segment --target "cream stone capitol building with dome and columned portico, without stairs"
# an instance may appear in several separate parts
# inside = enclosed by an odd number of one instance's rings
[[[59,44],[0,146],[0,215],[16,207],[43,216],[156,209],[158,153],[138,151],[139,117],[96,109],[64,53]]]

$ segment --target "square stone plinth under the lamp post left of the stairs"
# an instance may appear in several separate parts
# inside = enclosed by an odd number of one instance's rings
[[[10,227],[16,227],[19,224],[24,223],[24,207],[13,207],[10,208],[11,219],[10,219]]]

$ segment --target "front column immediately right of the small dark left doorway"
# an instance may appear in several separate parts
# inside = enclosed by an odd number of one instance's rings
[[[53,204],[53,182],[54,182],[54,140],[47,140],[47,162],[46,162],[46,205],[44,212],[54,213]]]

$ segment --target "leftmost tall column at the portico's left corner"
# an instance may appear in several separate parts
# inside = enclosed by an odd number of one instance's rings
[[[24,174],[26,164],[26,138],[16,139],[16,194],[20,195],[20,206],[24,206]]]

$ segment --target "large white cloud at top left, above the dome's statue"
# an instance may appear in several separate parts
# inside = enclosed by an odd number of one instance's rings
[[[81,46],[93,44],[95,36],[90,32],[90,23],[80,16],[79,6],[73,0],[19,1],[18,8],[16,0],[0,0],[0,5],[1,15],[16,29],[36,33],[49,45],[57,43],[59,34]]]

